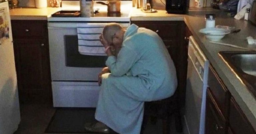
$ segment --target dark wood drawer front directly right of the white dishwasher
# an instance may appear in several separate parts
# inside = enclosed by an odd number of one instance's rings
[[[218,107],[224,115],[224,118],[227,119],[231,95],[212,66],[210,66],[209,69],[208,85]]]

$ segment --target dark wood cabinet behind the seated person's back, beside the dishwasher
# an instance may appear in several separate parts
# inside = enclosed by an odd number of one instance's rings
[[[155,31],[163,39],[176,67],[179,102],[184,105],[188,57],[188,42],[184,39],[186,24],[183,21],[132,21],[131,23]]]

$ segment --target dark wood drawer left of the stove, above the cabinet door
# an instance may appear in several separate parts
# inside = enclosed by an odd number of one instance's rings
[[[13,20],[12,34],[14,38],[45,38],[47,21]]]

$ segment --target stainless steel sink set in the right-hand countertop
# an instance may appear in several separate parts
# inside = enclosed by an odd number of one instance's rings
[[[256,97],[256,51],[222,51],[219,55]]]

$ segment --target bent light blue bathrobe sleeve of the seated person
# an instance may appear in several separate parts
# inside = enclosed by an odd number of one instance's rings
[[[111,71],[113,76],[123,76],[138,60],[138,54],[129,46],[123,45],[119,51],[117,58],[115,56],[109,56],[106,65]]]

